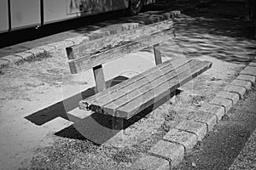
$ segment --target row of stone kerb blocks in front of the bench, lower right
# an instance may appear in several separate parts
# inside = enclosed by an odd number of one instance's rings
[[[191,120],[181,122],[166,133],[162,140],[148,150],[148,155],[135,162],[133,165],[135,169],[140,167],[148,170],[167,170],[177,166],[183,160],[183,156],[212,130],[212,127],[243,97],[246,91],[255,86],[255,80],[256,58],[230,82],[230,85],[220,91],[209,103],[203,104]]]

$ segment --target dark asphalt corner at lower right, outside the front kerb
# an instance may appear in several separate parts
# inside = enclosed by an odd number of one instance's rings
[[[255,169],[255,109],[253,88],[175,169]]]

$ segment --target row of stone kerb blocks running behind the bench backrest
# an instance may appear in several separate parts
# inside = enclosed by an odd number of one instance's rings
[[[138,19],[136,20],[137,23],[114,24],[114,25],[106,26],[96,31],[91,31],[90,34],[87,36],[67,38],[66,40],[63,40],[61,42],[49,43],[47,45],[40,46],[38,48],[32,48],[24,52],[7,55],[0,58],[0,70],[3,69],[3,67],[6,67],[8,65],[20,64],[23,61],[29,61],[39,57],[40,58],[48,57],[51,52],[54,52],[59,49],[67,48],[73,45],[78,45],[80,42],[83,42],[83,41],[94,40],[100,37],[116,34],[121,31],[133,30],[141,26],[159,22],[161,20],[170,20],[177,17],[177,15],[179,14],[180,14],[180,11],[177,11],[177,10],[166,12],[164,14],[151,14],[148,20]],[[129,18],[127,19],[127,21],[129,21]],[[134,22],[134,20],[131,20],[131,21]]]

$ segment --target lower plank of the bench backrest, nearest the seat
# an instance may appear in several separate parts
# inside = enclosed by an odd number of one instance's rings
[[[71,73],[74,74],[81,71],[86,71],[96,65],[102,65],[110,60],[123,57],[125,54],[131,54],[140,49],[148,48],[155,43],[166,41],[173,37],[172,32],[173,29],[160,31],[147,37],[141,37],[136,41],[127,42],[115,48],[110,48],[107,51],[99,54],[84,56],[79,59],[72,59],[69,61]]]

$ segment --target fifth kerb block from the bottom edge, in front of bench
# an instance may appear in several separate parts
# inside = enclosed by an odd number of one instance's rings
[[[237,94],[238,95],[238,94]],[[196,111],[192,118],[195,122],[203,122],[207,124],[207,132],[210,132],[217,123],[217,116],[206,111]]]

